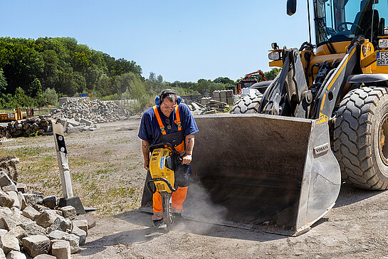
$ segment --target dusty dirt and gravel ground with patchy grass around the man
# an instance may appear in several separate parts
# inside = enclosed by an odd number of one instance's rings
[[[388,191],[343,185],[335,207],[298,237],[182,219],[169,233],[138,211],[145,169],[140,120],[65,135],[75,195],[94,206],[97,226],[72,258],[388,258]],[[53,137],[17,139],[0,155],[21,159],[19,179],[61,196]],[[194,147],[195,156],[195,147]]]

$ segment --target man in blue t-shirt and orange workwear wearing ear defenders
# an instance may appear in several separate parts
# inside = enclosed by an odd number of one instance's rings
[[[175,181],[178,189],[172,194],[172,213],[175,217],[182,214],[182,203],[186,199],[189,186],[189,163],[192,162],[194,148],[194,134],[198,127],[187,105],[181,103],[181,97],[174,90],[163,90],[156,97],[155,106],[148,109],[142,116],[138,136],[142,139],[144,167],[147,170],[147,179],[150,179],[150,151],[151,144],[169,143],[174,146],[182,157],[175,172]],[[147,191],[147,190],[145,190]],[[154,226],[166,228],[163,221],[162,197],[158,192],[152,196]]]

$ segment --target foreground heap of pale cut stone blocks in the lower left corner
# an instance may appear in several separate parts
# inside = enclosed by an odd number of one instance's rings
[[[91,217],[77,219],[73,206],[58,208],[55,196],[27,193],[25,184],[15,184],[4,171],[0,187],[0,259],[26,258],[24,253],[70,259],[95,226]]]

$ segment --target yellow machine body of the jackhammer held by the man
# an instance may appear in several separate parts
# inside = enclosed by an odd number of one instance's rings
[[[154,149],[150,158],[150,173],[152,178],[164,178],[171,186],[174,186],[174,171],[167,168],[167,157],[171,154],[171,150],[167,148]],[[154,181],[157,191],[166,191],[172,193],[169,186],[164,181]]]

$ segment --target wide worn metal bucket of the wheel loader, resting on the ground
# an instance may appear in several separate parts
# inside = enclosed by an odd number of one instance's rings
[[[341,176],[327,122],[261,114],[195,120],[187,218],[298,236],[334,206]],[[221,215],[202,209],[206,202]]]

